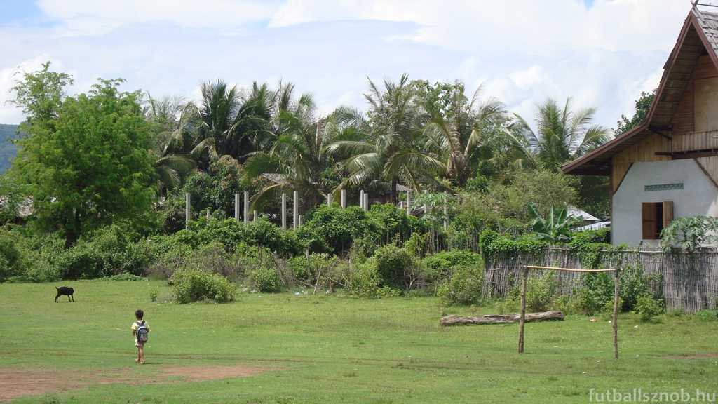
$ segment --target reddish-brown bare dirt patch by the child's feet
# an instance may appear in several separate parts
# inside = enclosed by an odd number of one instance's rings
[[[129,369],[116,369],[98,374],[89,371],[57,372],[42,369],[20,371],[0,367],[0,403],[6,403],[22,395],[77,390],[95,384],[127,383],[129,385],[144,385],[149,383],[199,382],[202,380],[227,379],[229,377],[247,377],[273,370],[282,369],[245,365],[159,367],[156,375],[140,378],[131,376]]]

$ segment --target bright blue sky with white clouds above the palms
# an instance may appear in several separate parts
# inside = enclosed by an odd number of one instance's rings
[[[202,81],[292,81],[323,113],[365,109],[368,79],[461,80],[531,121],[546,97],[615,127],[658,85],[683,0],[0,0],[0,123],[18,70],[45,60],[70,93],[97,78],[197,98]]]

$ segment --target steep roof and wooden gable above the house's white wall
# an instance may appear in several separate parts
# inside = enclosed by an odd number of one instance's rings
[[[633,162],[708,157],[696,153],[718,152],[718,136],[712,137],[718,134],[718,114],[714,113],[718,111],[717,55],[718,14],[694,6],[663,66],[645,119],[561,170],[608,175],[613,192]],[[718,180],[718,171],[712,179]]]

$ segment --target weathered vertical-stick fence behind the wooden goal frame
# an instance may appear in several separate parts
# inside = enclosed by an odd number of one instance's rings
[[[663,252],[658,247],[640,250],[604,251],[600,265],[605,268],[628,268],[643,265],[645,274],[660,278],[651,284],[662,293],[669,307],[681,307],[689,312],[717,308],[718,249],[699,249],[697,252]],[[488,257],[482,292],[486,296],[505,298],[518,285],[525,265],[582,268],[578,254],[565,247],[544,247],[539,254],[514,254],[512,257]],[[548,271],[559,280],[558,292],[573,295],[579,287],[580,272]],[[529,277],[541,270],[530,270]]]

